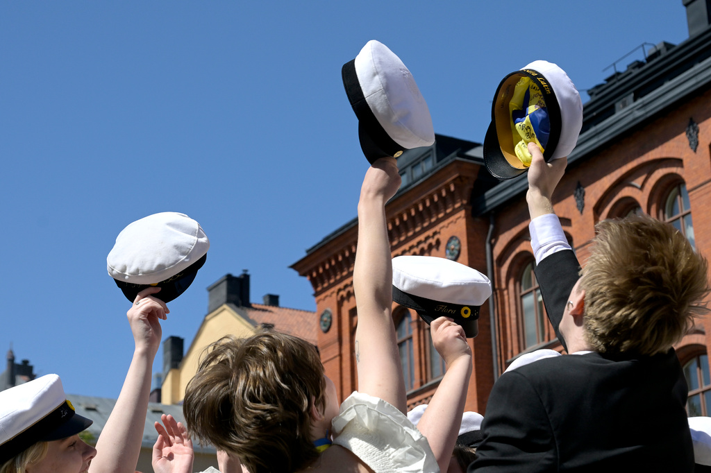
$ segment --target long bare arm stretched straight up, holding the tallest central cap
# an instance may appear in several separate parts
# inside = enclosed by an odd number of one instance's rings
[[[407,401],[392,323],[392,254],[385,203],[400,187],[395,158],[380,158],[365,173],[358,202],[358,250],[353,290],[358,305],[355,361],[358,391],[405,413]]]

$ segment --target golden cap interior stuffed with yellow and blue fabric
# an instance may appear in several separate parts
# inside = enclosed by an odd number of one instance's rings
[[[513,151],[518,161],[528,168],[531,163],[528,143],[535,143],[543,153],[550,136],[550,119],[545,99],[530,77],[524,76],[518,80],[508,109]]]

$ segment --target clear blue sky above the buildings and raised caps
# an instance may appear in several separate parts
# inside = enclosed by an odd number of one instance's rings
[[[531,5],[1,1],[0,352],[70,393],[118,396],[130,303],[106,256],[155,212],[190,215],[211,242],[164,338],[187,347],[205,288],[242,269],[253,301],[315,310],[289,266],[355,217],[368,163],[341,65],[370,39],[410,68],[437,133],[481,142],[508,72],[545,59],[584,90],[638,45],[688,37],[682,0]]]

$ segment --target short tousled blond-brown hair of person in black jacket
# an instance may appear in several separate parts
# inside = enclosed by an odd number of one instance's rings
[[[667,352],[707,312],[706,259],[670,224],[646,216],[596,225],[581,271],[585,337],[597,352]]]

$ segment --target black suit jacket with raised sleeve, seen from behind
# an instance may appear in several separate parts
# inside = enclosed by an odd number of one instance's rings
[[[558,332],[579,266],[570,250],[536,268]],[[494,384],[469,473],[693,472],[688,388],[673,350],[540,359]]]

